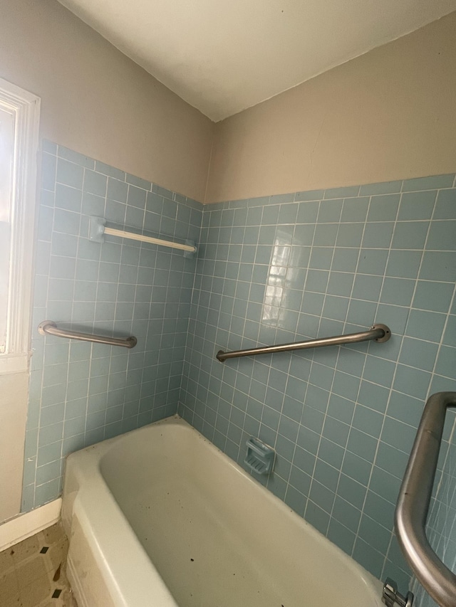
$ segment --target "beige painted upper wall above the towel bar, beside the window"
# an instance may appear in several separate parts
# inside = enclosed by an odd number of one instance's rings
[[[41,135],[202,201],[214,124],[56,0],[3,1],[0,77],[41,97]]]

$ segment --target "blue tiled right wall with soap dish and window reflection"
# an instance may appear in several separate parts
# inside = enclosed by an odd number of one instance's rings
[[[205,206],[190,311],[180,415],[241,465],[248,436],[272,445],[260,482],[404,591],[398,489],[427,396],[456,390],[455,185],[450,174]],[[215,359],[374,322],[389,342]]]

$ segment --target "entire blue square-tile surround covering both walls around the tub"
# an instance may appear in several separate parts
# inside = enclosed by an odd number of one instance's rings
[[[114,237],[90,242],[90,215],[199,241],[197,258]],[[425,398],[456,389],[455,226],[454,174],[203,210],[44,142],[23,510],[59,495],[66,454],[178,411],[241,464],[248,436],[273,445],[274,475],[259,480],[405,590],[395,498]],[[45,339],[42,320],[135,334],[138,346]],[[373,322],[390,326],[389,342],[214,358]],[[454,421],[430,517],[449,566]]]

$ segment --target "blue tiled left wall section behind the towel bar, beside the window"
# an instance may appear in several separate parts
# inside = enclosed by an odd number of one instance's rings
[[[90,215],[197,241],[202,205],[44,142],[23,511],[59,495],[68,453],[177,411],[195,257],[113,236],[90,242]],[[138,345],[44,338],[42,320],[133,334]]]

